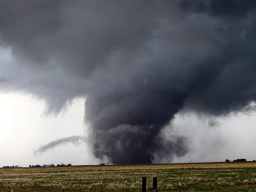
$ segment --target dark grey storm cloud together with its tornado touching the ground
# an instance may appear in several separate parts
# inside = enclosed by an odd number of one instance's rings
[[[254,1],[1,1],[16,62],[0,86],[50,111],[86,97],[98,158],[172,161],[187,139],[161,130],[180,110],[221,116],[255,101],[255,16]]]

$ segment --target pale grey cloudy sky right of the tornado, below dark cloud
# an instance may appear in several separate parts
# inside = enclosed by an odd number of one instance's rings
[[[256,112],[251,114],[231,114],[216,118],[218,125],[209,125],[212,117],[200,117],[195,114],[178,114],[172,125],[163,130],[166,137],[181,135],[188,138],[189,153],[174,162],[225,161],[227,158],[256,159],[253,150],[256,137]]]

